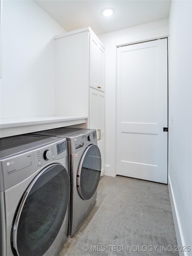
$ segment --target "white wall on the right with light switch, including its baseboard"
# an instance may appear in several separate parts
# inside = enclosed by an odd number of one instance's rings
[[[192,255],[191,1],[172,1],[169,17],[168,179],[178,245]],[[172,124],[173,115],[173,124]]]

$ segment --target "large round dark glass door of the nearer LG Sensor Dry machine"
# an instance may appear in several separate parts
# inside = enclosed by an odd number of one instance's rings
[[[13,252],[41,256],[52,245],[64,221],[70,180],[61,164],[43,169],[26,190],[13,224]]]

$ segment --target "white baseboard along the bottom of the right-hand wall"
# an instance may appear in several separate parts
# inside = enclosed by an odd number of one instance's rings
[[[171,184],[170,176],[168,176],[168,189],[169,189],[169,195],[170,195],[170,201],[171,201],[171,208],[173,212],[173,221],[175,225],[175,233],[176,233],[176,239],[177,239],[177,245],[185,246],[184,237],[182,233],[181,223],[179,220],[179,214],[176,206],[175,196],[173,192],[173,187]],[[191,249],[191,248],[190,248]],[[179,256],[191,256],[191,251],[188,252],[190,254],[187,254],[187,251],[179,251]]]

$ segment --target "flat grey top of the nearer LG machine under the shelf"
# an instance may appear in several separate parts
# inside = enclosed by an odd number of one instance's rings
[[[0,139],[0,158],[18,154],[26,150],[33,150],[39,146],[46,146],[49,143],[61,140],[58,137],[45,137],[40,135],[15,135]]]

